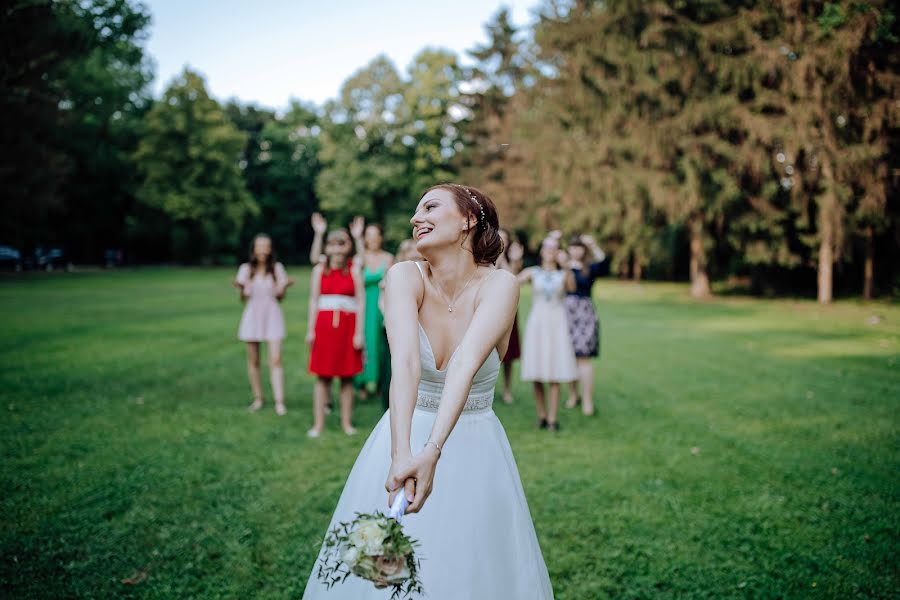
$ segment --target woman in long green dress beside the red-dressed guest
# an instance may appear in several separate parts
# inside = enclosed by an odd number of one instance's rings
[[[388,352],[387,340],[384,337],[384,315],[378,299],[381,296],[381,280],[394,264],[394,257],[382,248],[384,235],[381,226],[375,223],[366,225],[363,235],[365,252],[363,253],[363,284],[366,288],[366,315],[363,333],[366,338],[366,353],[363,361],[363,372],[357,376],[359,396],[363,400],[369,394],[383,389],[384,355]]]

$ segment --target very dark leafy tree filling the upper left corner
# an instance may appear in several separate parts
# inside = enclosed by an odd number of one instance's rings
[[[127,0],[14,2],[0,13],[5,240],[94,260],[123,241],[149,18]]]

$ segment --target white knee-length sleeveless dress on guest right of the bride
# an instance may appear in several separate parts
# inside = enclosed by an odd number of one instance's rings
[[[532,267],[531,313],[525,323],[521,375],[524,381],[575,381],[575,351],[563,305],[566,273]]]

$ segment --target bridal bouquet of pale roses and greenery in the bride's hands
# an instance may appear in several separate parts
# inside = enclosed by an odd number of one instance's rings
[[[392,600],[422,594],[414,552],[418,542],[404,534],[400,526],[405,505],[401,491],[389,515],[357,513],[353,521],[339,523],[329,531],[317,573],[319,581],[331,588],[352,574],[377,588],[393,587]]]

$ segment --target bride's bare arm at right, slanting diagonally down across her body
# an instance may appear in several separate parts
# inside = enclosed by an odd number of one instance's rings
[[[516,277],[503,270],[498,270],[489,277],[479,291],[479,296],[483,300],[475,309],[459,349],[447,367],[444,392],[428,443],[420,454],[409,461],[405,469],[396,473],[398,476],[396,480],[388,481],[389,485],[393,483],[396,487],[401,478],[416,480],[415,497],[406,511],[408,513],[418,512],[431,494],[434,470],[440,458],[438,449],[443,448],[444,442],[459,420],[475,374],[488,355],[512,329],[519,302]]]

